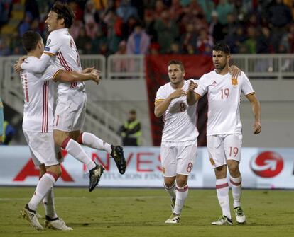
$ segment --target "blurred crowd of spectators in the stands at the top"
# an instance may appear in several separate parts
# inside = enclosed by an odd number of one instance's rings
[[[23,54],[21,36],[47,36],[55,1],[0,1],[0,56]],[[211,54],[224,41],[232,53],[294,52],[293,0],[66,1],[75,11],[70,33],[81,54]],[[18,6],[23,18],[4,33]],[[21,8],[23,6],[23,8]],[[18,9],[18,11],[19,11]]]

